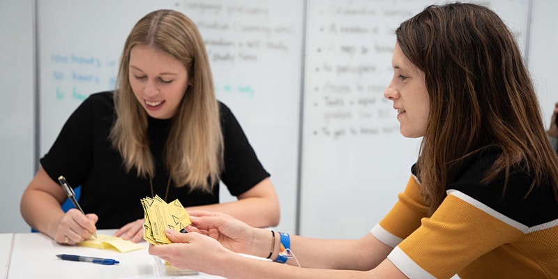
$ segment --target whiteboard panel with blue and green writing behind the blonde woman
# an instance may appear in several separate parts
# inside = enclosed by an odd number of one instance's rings
[[[217,98],[239,119],[271,173],[279,199],[295,200],[303,2],[56,0],[37,4],[40,156],[84,98],[114,89],[119,56],[133,24],[152,10],[172,8],[199,27]],[[226,190],[221,197],[232,200]],[[295,211],[296,204],[282,203],[282,229],[294,232]]]

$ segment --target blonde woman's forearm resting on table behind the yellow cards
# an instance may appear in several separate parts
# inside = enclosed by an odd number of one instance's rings
[[[190,210],[204,210],[226,213],[252,227],[273,227],[278,225],[279,205],[265,197],[248,197],[235,202],[186,207]]]

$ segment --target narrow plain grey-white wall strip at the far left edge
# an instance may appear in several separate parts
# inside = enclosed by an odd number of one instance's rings
[[[0,232],[29,232],[20,198],[33,176],[33,0],[0,1]]]

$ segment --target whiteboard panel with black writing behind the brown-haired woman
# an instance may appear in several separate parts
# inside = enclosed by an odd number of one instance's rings
[[[301,235],[361,237],[404,190],[421,139],[400,135],[393,102],[383,92],[393,75],[395,29],[431,3],[308,1]],[[524,50],[529,1],[485,4]]]

